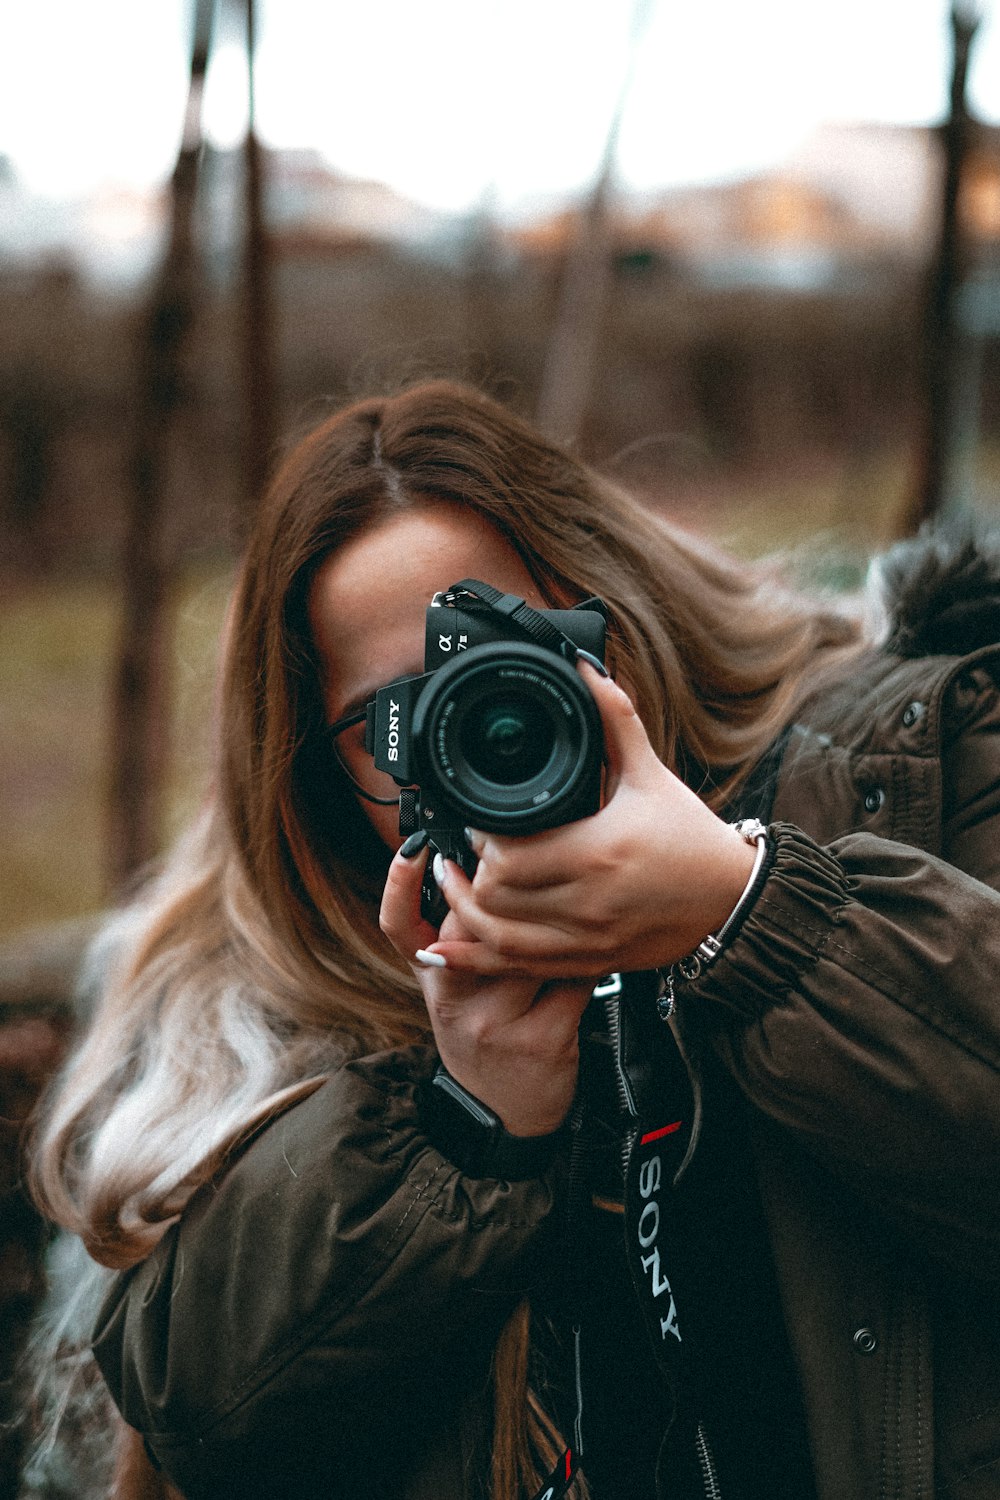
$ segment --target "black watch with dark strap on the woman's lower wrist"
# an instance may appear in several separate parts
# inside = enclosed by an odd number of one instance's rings
[[[433,1144],[472,1178],[537,1178],[550,1166],[564,1134],[559,1128],[547,1136],[511,1136],[442,1062],[424,1089],[423,1114]]]

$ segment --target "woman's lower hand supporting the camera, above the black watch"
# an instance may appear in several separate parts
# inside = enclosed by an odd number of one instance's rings
[[[456,942],[463,951],[475,946],[454,912],[445,916],[441,934],[421,918],[426,858],[396,855],[379,921],[420,980],[441,1060],[511,1136],[558,1130],[576,1092],[577,1028],[592,986],[540,984],[507,974],[483,978],[417,962],[417,951],[435,939]]]

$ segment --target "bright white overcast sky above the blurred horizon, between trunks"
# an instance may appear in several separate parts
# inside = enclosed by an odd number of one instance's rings
[[[948,94],[948,0],[646,0],[619,146],[639,188],[780,162],[820,122],[928,123]],[[1000,0],[982,0],[972,104],[1000,122]],[[444,208],[588,182],[613,112],[633,0],[259,0],[258,120],[274,146]],[[75,196],[163,180],[177,153],[190,6],[7,6],[0,153]],[[232,144],[246,82],[217,33],[208,132]]]

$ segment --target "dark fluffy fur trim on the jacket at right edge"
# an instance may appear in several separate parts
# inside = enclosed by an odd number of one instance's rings
[[[948,522],[898,542],[873,566],[892,656],[967,656],[1000,642],[1000,530]]]

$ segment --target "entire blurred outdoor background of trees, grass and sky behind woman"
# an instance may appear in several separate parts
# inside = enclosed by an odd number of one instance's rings
[[[831,588],[927,518],[996,516],[999,12],[6,8],[0,1348],[39,1287],[18,1120],[91,914],[196,804],[282,446],[451,374]]]

